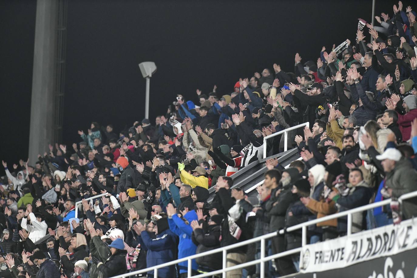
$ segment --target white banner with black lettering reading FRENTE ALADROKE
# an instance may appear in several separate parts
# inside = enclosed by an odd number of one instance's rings
[[[417,220],[409,219],[399,225],[305,245],[300,254],[300,271],[309,273],[344,268],[414,248],[417,248]]]

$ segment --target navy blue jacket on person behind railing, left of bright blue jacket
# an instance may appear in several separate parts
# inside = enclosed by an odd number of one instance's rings
[[[171,230],[166,229],[152,239],[147,231],[141,233],[142,242],[147,249],[146,267],[160,265],[175,260],[176,239]],[[176,277],[175,265],[158,269],[158,277]],[[153,270],[148,272],[148,276],[153,276]]]

